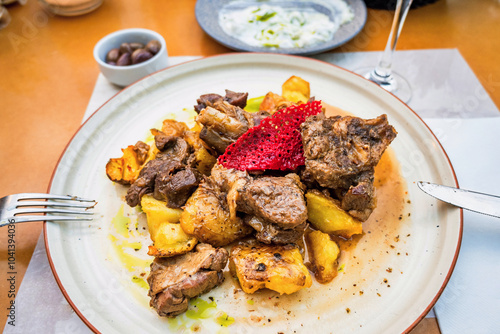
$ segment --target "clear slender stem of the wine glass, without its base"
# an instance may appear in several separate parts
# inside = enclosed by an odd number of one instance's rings
[[[394,50],[396,50],[399,34],[403,29],[403,23],[405,22],[406,15],[408,14],[408,10],[410,9],[412,2],[413,0],[397,0],[394,20],[392,21],[391,34],[387,40],[384,53],[382,54],[382,57],[373,72],[373,75],[376,76],[376,81],[383,82],[384,78],[387,80],[390,80],[391,78],[392,57],[394,55]]]

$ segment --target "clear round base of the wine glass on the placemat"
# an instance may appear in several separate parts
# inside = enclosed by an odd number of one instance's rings
[[[388,77],[382,77],[375,73],[375,66],[363,67],[353,71],[366,79],[375,82],[388,92],[396,95],[404,103],[411,100],[412,90],[408,81],[394,71]]]

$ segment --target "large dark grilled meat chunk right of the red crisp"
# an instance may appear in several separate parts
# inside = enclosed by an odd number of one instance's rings
[[[301,125],[306,173],[322,187],[348,189],[358,174],[375,167],[396,138],[387,116],[309,117]]]

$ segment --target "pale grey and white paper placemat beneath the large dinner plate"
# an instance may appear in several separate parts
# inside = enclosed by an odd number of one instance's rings
[[[349,70],[375,64],[379,52],[323,54],[316,58]],[[170,57],[170,65],[198,57]],[[500,112],[455,49],[398,51],[394,70],[413,87],[409,103],[438,136],[461,187],[500,194]],[[99,75],[87,119],[120,90]],[[500,220],[464,212],[461,253],[435,307],[444,334],[495,333],[500,328]],[[40,237],[16,298],[16,326],[4,333],[89,333],[66,302]]]

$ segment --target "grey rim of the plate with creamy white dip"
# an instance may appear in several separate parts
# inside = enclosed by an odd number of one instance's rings
[[[222,0],[222,1],[230,1],[230,0]],[[204,33],[206,33],[215,42],[217,42],[217,43],[219,43],[219,44],[221,44],[221,45],[223,45],[231,50],[236,50],[238,52],[248,51],[248,52],[258,52],[258,53],[275,53],[275,54],[288,54],[288,55],[297,55],[297,56],[312,56],[312,55],[316,55],[316,54],[321,53],[321,52],[325,52],[328,50],[338,48],[341,45],[344,45],[345,43],[349,42],[354,37],[356,37],[363,30],[363,28],[366,24],[366,20],[368,18],[368,8],[366,7],[365,2],[363,0],[347,0],[347,1],[356,2],[357,6],[360,6],[360,8],[361,8],[361,24],[354,31],[354,33],[351,36],[349,36],[341,41],[338,41],[336,43],[332,43],[333,39],[335,39],[335,36],[334,36],[331,41],[327,41],[325,43],[321,43],[321,44],[318,44],[316,46],[312,46],[310,48],[282,49],[282,50],[289,50],[289,51],[285,51],[285,52],[280,52],[279,49],[277,49],[277,50],[269,49],[269,51],[266,52],[265,51],[266,49],[263,47],[257,47],[257,46],[251,46],[251,45],[246,46],[246,44],[243,42],[241,42],[242,43],[241,45],[235,46],[235,45],[232,45],[231,43],[227,43],[226,41],[221,40],[219,38],[219,35],[215,34],[212,29],[209,29],[209,27],[204,24],[204,21],[202,19],[200,19],[201,14],[200,14],[200,10],[199,10],[199,4],[202,2],[210,3],[210,0],[197,0],[196,1],[195,17],[196,17],[196,22],[198,23],[198,25],[200,26],[200,28],[203,30]],[[218,15],[218,13],[217,13],[217,15]],[[341,27],[339,28],[339,30],[340,29],[341,29]],[[231,38],[231,39],[234,38],[234,37],[227,35],[224,31],[223,31],[223,36],[227,36],[228,38]],[[297,51],[292,51],[292,50],[297,50]]]

